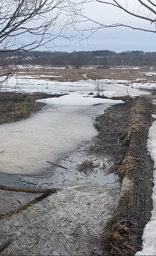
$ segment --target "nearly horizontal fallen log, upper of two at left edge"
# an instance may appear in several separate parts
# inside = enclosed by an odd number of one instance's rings
[[[56,188],[50,189],[39,189],[39,188],[28,188],[28,187],[12,187],[6,185],[0,185],[0,189],[15,191],[15,192],[26,192],[26,193],[42,193],[42,194],[52,194],[56,192]]]

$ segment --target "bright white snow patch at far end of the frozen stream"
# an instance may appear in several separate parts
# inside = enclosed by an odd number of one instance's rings
[[[117,104],[124,103],[122,100],[93,98],[84,94],[69,94],[59,98],[39,99],[36,102],[54,105],[88,106],[93,104]]]

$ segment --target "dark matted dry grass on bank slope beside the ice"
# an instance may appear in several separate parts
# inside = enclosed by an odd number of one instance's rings
[[[132,98],[127,101],[126,97],[123,100],[126,100],[125,104],[115,105],[96,118],[95,127],[99,134],[91,148],[91,152],[97,156],[112,158],[115,168],[120,165],[129,144],[128,118],[135,101]]]

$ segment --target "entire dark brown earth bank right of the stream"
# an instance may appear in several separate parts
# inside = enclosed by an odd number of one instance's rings
[[[135,255],[141,250],[152,210],[153,163],[146,144],[153,105],[146,97],[123,100],[125,104],[97,118],[99,135],[92,148],[98,155],[112,155],[112,172],[122,183],[117,209],[104,228],[104,255]]]

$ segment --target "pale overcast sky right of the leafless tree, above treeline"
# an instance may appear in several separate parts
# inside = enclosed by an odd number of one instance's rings
[[[111,0],[109,2],[112,2]],[[126,3],[126,0],[119,0],[119,2]],[[128,1],[127,1],[128,2]],[[146,0],[145,0],[146,2]],[[135,0],[128,2],[130,10],[134,6]],[[115,23],[122,23],[133,27],[139,27],[143,29],[154,29],[150,22],[143,19],[139,19],[126,14],[124,11],[113,6],[105,5],[93,1],[85,5],[84,15],[96,20],[103,25],[112,25]],[[81,23],[77,26],[82,29],[92,28],[92,22]],[[96,25],[95,25],[96,26]],[[88,36],[88,32],[84,32]],[[56,41],[57,45],[63,45],[62,47],[55,47],[55,51],[93,51],[93,50],[112,50],[116,52],[121,51],[156,51],[156,33],[143,32],[138,30],[132,30],[130,28],[118,27],[118,28],[103,28],[96,31],[87,40],[82,40],[81,45],[77,42],[78,39],[71,42],[63,42],[60,38]],[[50,45],[49,45],[50,46]],[[40,50],[46,50],[44,48]]]

